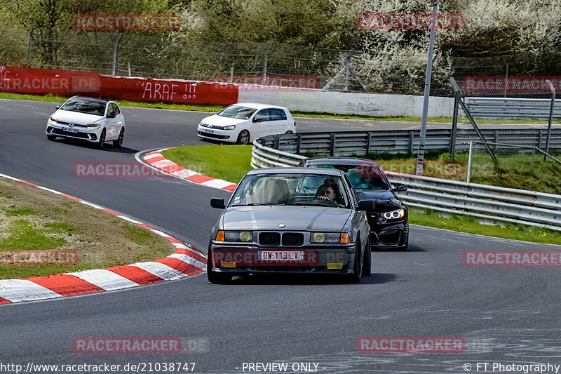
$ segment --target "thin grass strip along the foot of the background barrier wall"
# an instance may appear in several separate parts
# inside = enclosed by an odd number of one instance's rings
[[[55,95],[22,95],[19,93],[0,93],[0,99],[11,100],[32,100],[32,101],[49,101],[49,102],[65,102],[68,98]],[[174,104],[171,102],[135,102],[127,100],[118,100],[119,105],[123,107],[140,107],[152,109],[170,109],[170,110],[188,110],[196,112],[219,112],[224,109],[223,105],[194,105],[194,104]],[[326,112],[291,112],[294,117],[307,118],[325,118],[325,119],[363,119],[372,121],[405,121],[405,122],[421,122],[421,117],[410,116],[360,116],[356,114],[335,114]],[[452,117],[428,117],[428,122],[452,123]],[[465,118],[459,119],[460,123],[469,123]],[[547,121],[536,121],[533,119],[522,120],[506,120],[506,119],[485,119],[480,120],[481,123],[548,123]],[[561,120],[553,121],[553,123],[561,123]]]

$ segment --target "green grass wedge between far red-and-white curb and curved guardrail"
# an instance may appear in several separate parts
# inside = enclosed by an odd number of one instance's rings
[[[162,152],[162,156],[184,168],[237,183],[250,165],[252,145],[194,145]]]

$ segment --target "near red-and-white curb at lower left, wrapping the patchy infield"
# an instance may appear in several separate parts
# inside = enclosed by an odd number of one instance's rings
[[[48,192],[53,192],[53,194],[65,196],[79,203],[92,206],[100,211],[111,213],[116,217],[133,222],[136,225],[151,230],[155,234],[163,236],[171,241],[176,248],[173,255],[154,261],[137,262],[131,265],[109,267],[107,269],[38,276],[36,278],[0,280],[0,304],[61,298],[62,296],[118,290],[120,288],[135,287],[149,283],[171,281],[199,274],[206,269],[206,256],[201,251],[182,243],[173,236],[154,229],[154,227],[149,227],[126,215],[115,213],[102,206],[55,191],[54,189],[41,187],[9,175],[0,174],[0,177],[44,189]]]

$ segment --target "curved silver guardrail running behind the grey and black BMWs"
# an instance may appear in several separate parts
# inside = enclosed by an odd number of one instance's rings
[[[303,134],[295,135],[300,135],[302,140]],[[306,159],[299,154],[269,147],[265,138],[253,142],[253,168],[297,166]],[[329,149],[324,150],[327,152]],[[407,185],[407,191],[398,192],[407,206],[472,215],[490,222],[518,223],[561,231],[561,195],[401,173],[386,172],[386,175],[393,183]]]

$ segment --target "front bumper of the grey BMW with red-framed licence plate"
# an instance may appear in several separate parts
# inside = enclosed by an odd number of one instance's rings
[[[210,246],[212,271],[232,276],[245,274],[352,274],[356,246],[302,246],[264,247],[229,246],[213,241]],[[303,260],[266,261],[259,260],[259,251],[304,252]],[[341,264],[339,268],[328,268],[328,264]],[[333,265],[331,265],[333,267]]]

